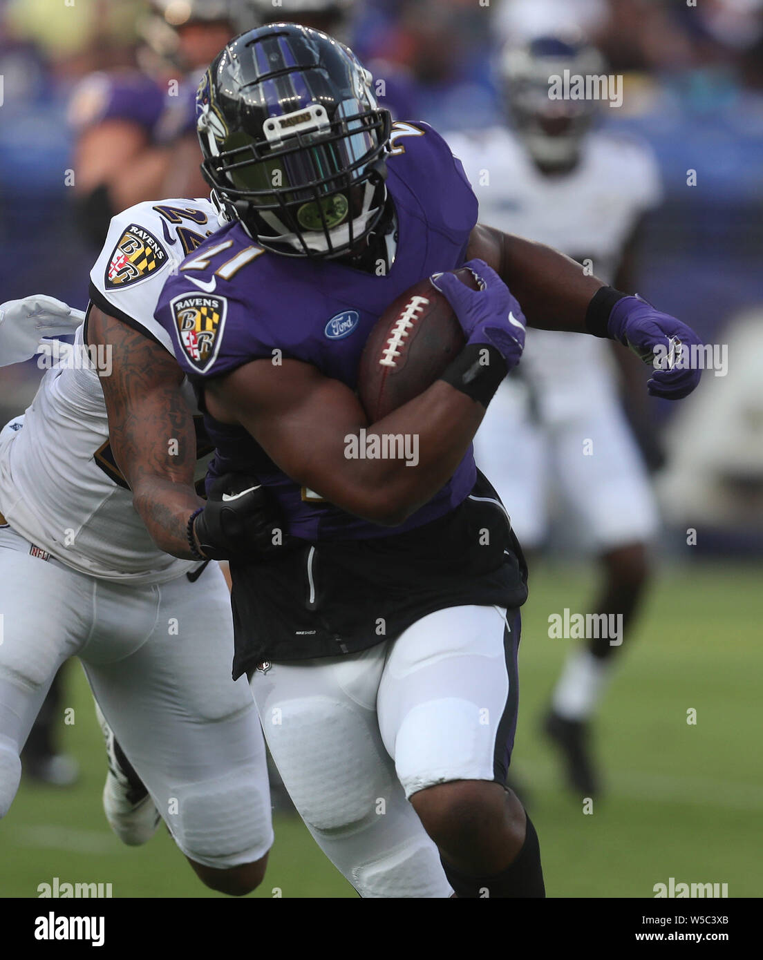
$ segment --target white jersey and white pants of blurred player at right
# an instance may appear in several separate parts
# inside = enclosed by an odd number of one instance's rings
[[[633,229],[660,202],[656,161],[630,139],[589,133],[578,166],[554,177],[544,176],[505,128],[455,133],[448,141],[480,202],[481,223],[554,247],[607,283]],[[593,456],[581,456],[586,440]],[[652,535],[652,493],[619,405],[606,341],[528,329],[522,362],[491,402],[475,450],[529,547],[546,533],[550,477],[596,547]]]

